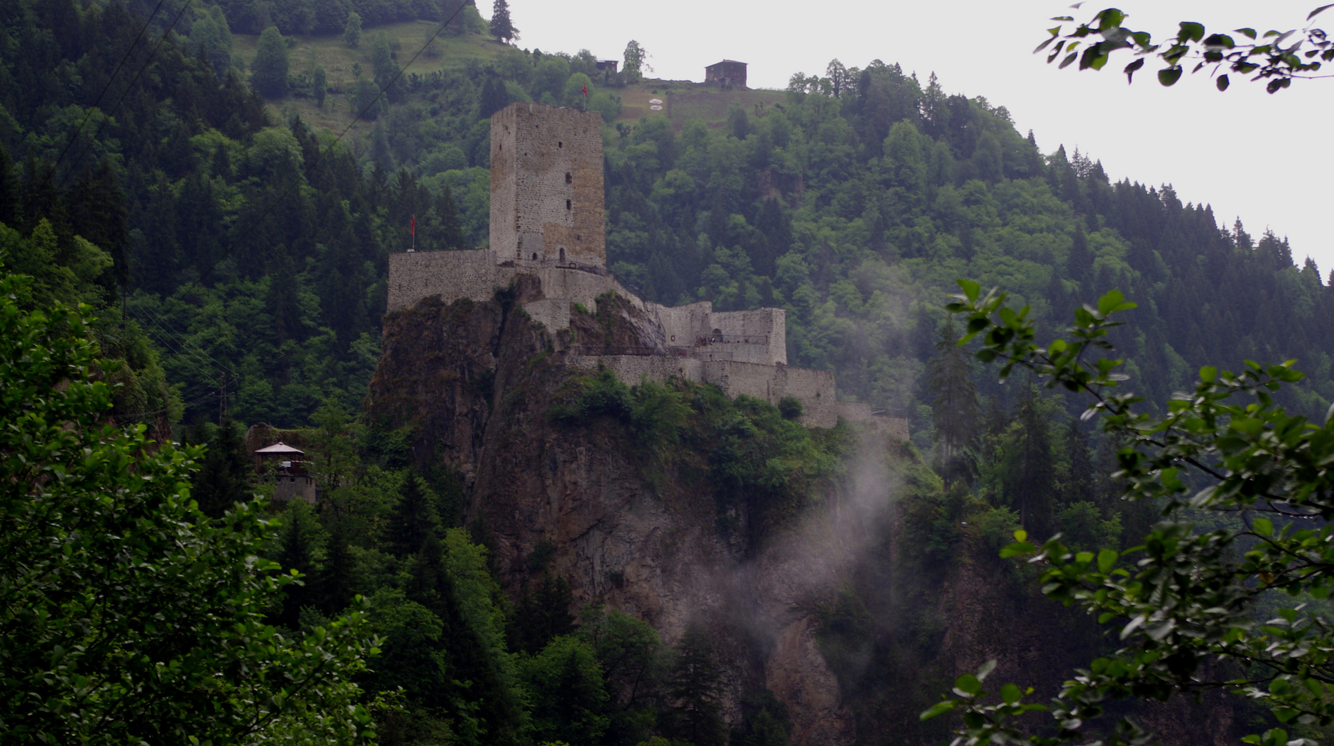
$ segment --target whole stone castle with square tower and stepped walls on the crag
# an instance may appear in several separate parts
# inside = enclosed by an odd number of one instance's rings
[[[802,403],[802,422],[832,427],[839,418],[899,440],[907,420],[839,402],[832,371],[787,364],[782,308],[714,311],[706,302],[667,307],[640,300],[607,272],[602,117],[598,112],[518,103],[491,117],[491,242],[471,251],[390,255],[388,311],[423,298],[490,300],[516,278],[536,278],[543,298],[523,310],[554,335],[571,314],[615,294],[642,312],[642,346],[566,350],[567,364],[614,371],[630,384],[680,376],[776,404]],[[578,304],[578,306],[576,306]]]

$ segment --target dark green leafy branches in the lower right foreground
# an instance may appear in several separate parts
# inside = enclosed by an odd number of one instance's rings
[[[922,717],[962,710],[966,738],[1047,745],[1082,739],[1085,721],[1101,714],[1107,698],[1169,699],[1187,689],[1226,687],[1263,703],[1283,723],[1329,725],[1334,715],[1319,683],[1327,662],[1317,653],[1331,634],[1325,615],[1298,603],[1258,623],[1278,593],[1317,599],[1330,593],[1331,530],[1307,527],[1303,519],[1334,515],[1322,496],[1327,476],[1318,466],[1334,448],[1334,419],[1315,424],[1275,404],[1277,392],[1302,379],[1293,362],[1247,363],[1241,374],[1206,366],[1193,392],[1167,402],[1165,416],[1153,416],[1137,411],[1143,398],[1121,391],[1126,376],[1117,371],[1125,360],[1097,352],[1111,350],[1107,332],[1121,323],[1111,316],[1135,307],[1121,292],[1075,311],[1067,334],[1043,347],[1034,342],[1027,308],[1015,311],[1006,306],[1006,294],[983,295],[971,280],[959,286],[963,292],[950,310],[967,315],[964,342],[980,338],[976,356],[999,360],[1002,376],[1019,366],[1049,388],[1089,396],[1090,416],[1126,442],[1117,472],[1125,496],[1161,502],[1163,520],[1123,552],[1093,546],[1078,551],[1058,538],[1039,547],[1023,530],[1000,552],[1035,555],[1046,595],[1097,614],[1099,623],[1121,623],[1125,647],[1093,661],[1050,707],[1059,723],[1057,737],[1022,735],[1023,726],[1011,725],[1027,711],[1047,710],[1023,703],[1019,687],[1002,687],[1003,705],[982,703],[979,682],[990,665],[978,677],[959,679],[956,699]],[[1191,520],[1209,512],[1243,512],[1246,519],[1223,527]],[[1074,503],[1061,518],[1089,534],[1081,536],[1086,540],[1115,538],[1090,503]],[[1213,670],[1206,673],[1206,659],[1237,663],[1242,673],[1217,681]],[[1147,739],[1130,721],[1118,725],[1118,737]],[[1269,731],[1247,741],[1275,738]]]

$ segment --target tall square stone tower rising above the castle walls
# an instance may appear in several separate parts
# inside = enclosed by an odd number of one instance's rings
[[[491,116],[496,262],[607,266],[602,115],[516,103]]]

